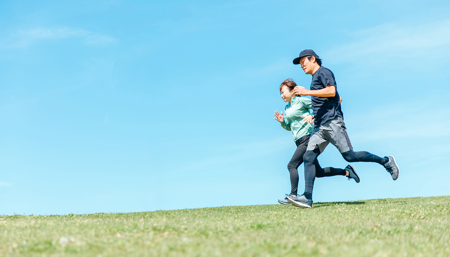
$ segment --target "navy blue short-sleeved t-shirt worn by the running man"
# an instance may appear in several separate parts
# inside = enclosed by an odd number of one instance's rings
[[[327,120],[333,120],[335,117],[344,118],[341,110],[341,102],[339,102],[338,87],[336,86],[336,80],[334,80],[334,74],[324,66],[320,66],[319,70],[312,75],[310,90],[324,89],[328,84],[336,88],[336,95],[334,97],[311,96],[315,128],[324,124]]]

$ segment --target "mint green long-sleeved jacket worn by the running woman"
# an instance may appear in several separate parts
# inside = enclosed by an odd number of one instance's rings
[[[292,131],[294,141],[312,133],[313,125],[300,118],[300,116],[312,115],[310,109],[312,109],[311,99],[306,97],[292,97],[291,102],[284,107],[284,120],[281,126]]]

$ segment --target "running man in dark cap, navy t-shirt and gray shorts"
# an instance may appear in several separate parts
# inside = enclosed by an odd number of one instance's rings
[[[312,207],[312,190],[315,179],[315,160],[332,143],[348,162],[375,162],[386,168],[396,180],[400,169],[393,156],[379,157],[366,151],[353,151],[347,129],[344,124],[339,93],[334,74],[322,66],[319,56],[311,49],[303,50],[294,64],[301,64],[305,74],[312,75],[311,89],[297,86],[294,93],[311,96],[314,111],[314,129],[306,153],[303,155],[305,166],[305,192],[300,196],[287,195],[288,201],[298,207]]]

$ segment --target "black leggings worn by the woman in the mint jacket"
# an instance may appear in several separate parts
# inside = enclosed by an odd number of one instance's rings
[[[294,152],[294,155],[292,156],[292,159],[289,161],[288,163],[288,170],[289,170],[289,177],[291,178],[291,194],[292,195],[297,195],[297,187],[298,187],[298,166],[300,166],[303,163],[303,156],[305,155],[306,152],[306,147],[308,147],[308,142],[309,142],[309,136],[307,135],[305,136],[305,138],[302,140],[302,138],[300,138],[299,140],[297,140],[296,144],[297,144],[297,149]],[[306,164],[306,163],[305,163]],[[326,167],[326,168],[321,168],[319,161],[315,160],[314,161],[314,170],[315,170],[315,175],[314,177],[331,177],[331,176],[336,176],[336,175],[344,175],[346,174],[346,171],[343,170],[342,168],[331,168],[331,167]],[[306,176],[306,172],[305,172],[305,182],[307,181],[307,179],[309,179],[309,177]],[[314,183],[314,180],[313,180]]]

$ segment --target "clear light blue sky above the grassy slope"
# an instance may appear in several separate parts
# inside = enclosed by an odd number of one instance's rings
[[[401,176],[316,179],[320,202],[450,194],[448,1],[1,1],[1,214],[275,204],[293,58],[334,72],[356,151]],[[329,146],[323,166],[345,167]],[[302,173],[301,173],[302,177]],[[302,179],[299,188],[303,188]],[[301,191],[301,190],[300,190]]]

